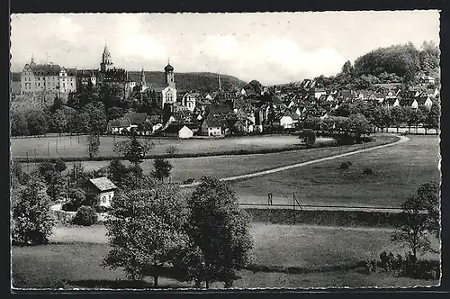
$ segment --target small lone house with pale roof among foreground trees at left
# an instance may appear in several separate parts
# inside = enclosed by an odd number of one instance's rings
[[[110,207],[117,186],[107,177],[96,177],[87,180],[83,189],[88,202],[97,206]]]

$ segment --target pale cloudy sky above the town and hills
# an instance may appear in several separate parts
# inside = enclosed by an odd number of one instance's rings
[[[220,72],[263,85],[336,75],[379,47],[439,43],[438,11],[257,14],[13,14],[11,68],[34,57],[99,68],[105,43],[116,68]]]

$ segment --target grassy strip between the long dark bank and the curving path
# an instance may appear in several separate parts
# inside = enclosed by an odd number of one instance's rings
[[[174,166],[172,169],[172,179],[174,182],[182,182],[185,179],[200,179],[202,176],[213,176],[218,178],[233,177],[253,173],[260,170],[267,170],[277,167],[283,167],[333,156],[356,149],[365,149],[381,144],[391,143],[398,139],[395,136],[378,136],[369,144],[356,144],[340,147],[319,148],[319,149],[301,149],[285,152],[239,155],[239,156],[218,156],[218,157],[200,157],[200,158],[178,158],[168,159]],[[85,161],[81,162],[85,170],[94,170],[109,165],[109,161]],[[129,165],[128,161],[124,162]],[[153,160],[146,159],[140,164],[144,173],[150,173],[153,170]],[[67,162],[67,167],[71,168],[71,163]],[[25,165],[23,168],[26,169]],[[30,171],[34,164],[30,163]]]

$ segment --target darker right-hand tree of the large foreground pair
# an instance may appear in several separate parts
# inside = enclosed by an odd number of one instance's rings
[[[189,248],[193,253],[186,271],[179,263],[185,280],[220,281],[231,286],[235,271],[247,265],[253,240],[249,234],[250,216],[238,205],[235,192],[214,177],[202,177],[187,200],[186,222]]]

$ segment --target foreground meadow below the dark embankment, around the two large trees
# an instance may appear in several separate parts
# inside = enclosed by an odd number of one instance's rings
[[[46,246],[13,248],[13,277],[17,287],[108,287],[125,279],[121,270],[100,267],[110,249],[103,226],[59,227]],[[383,274],[366,276],[356,270],[332,269],[353,266],[365,258],[377,258],[383,250],[401,252],[389,241],[391,231],[254,223],[254,264],[298,267],[306,274],[240,271],[237,287],[407,286],[436,285]],[[77,240],[77,242],[73,242]],[[95,240],[93,243],[91,241]],[[429,256],[428,258],[438,258]],[[160,278],[161,286],[189,286]],[[221,287],[214,284],[213,287]]]

